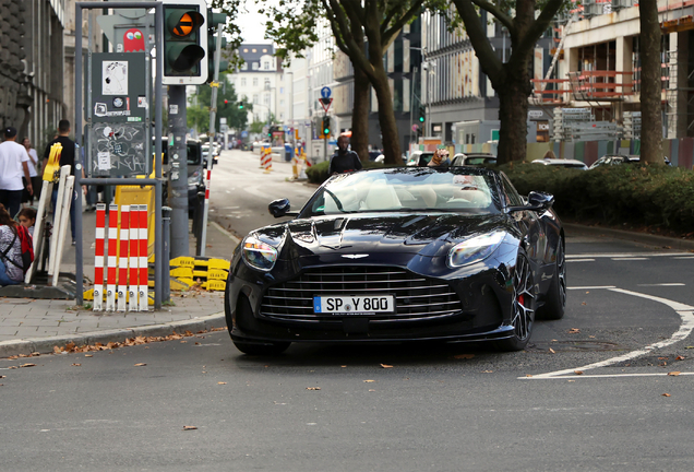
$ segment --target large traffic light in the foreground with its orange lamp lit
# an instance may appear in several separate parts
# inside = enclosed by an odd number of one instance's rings
[[[165,85],[201,85],[207,80],[205,0],[165,0]]]

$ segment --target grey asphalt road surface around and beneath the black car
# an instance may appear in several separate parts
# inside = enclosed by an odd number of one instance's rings
[[[239,206],[243,231],[266,219],[263,197],[303,194],[260,177],[213,176],[213,206]],[[565,318],[536,323],[518,353],[295,344],[253,357],[216,332],[0,361],[0,470],[692,470],[694,253],[575,232],[567,255]]]

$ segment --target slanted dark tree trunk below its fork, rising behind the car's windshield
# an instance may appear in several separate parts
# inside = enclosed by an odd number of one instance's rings
[[[400,155],[400,142],[397,133],[397,122],[395,121],[395,110],[393,109],[393,96],[391,95],[391,85],[388,76],[383,69],[383,55],[379,56],[373,63],[373,79],[371,85],[376,94],[379,102],[379,125],[381,125],[381,142],[383,144],[383,163],[386,165],[403,164]]]

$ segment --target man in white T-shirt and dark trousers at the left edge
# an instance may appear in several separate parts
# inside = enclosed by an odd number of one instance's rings
[[[0,144],[0,203],[14,217],[22,206],[22,193],[26,179],[26,189],[32,194],[32,178],[29,176],[29,157],[22,144],[16,142],[16,129],[8,127],[3,131],[4,142]]]

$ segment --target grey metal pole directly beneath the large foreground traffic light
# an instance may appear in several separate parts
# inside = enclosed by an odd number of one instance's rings
[[[171,257],[188,256],[188,149],[186,148],[186,85],[169,85],[169,204],[171,205]],[[174,113],[175,111],[175,113]]]

